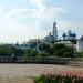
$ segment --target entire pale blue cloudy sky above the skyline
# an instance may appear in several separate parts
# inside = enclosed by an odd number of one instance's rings
[[[56,22],[59,39],[83,35],[83,0],[0,0],[0,43],[44,38]]]

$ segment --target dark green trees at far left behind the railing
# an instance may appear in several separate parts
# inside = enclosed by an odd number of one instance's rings
[[[9,44],[1,44],[0,45],[0,55],[1,56],[11,56],[12,54],[15,55],[23,55],[23,51],[20,49],[15,49],[12,45]]]

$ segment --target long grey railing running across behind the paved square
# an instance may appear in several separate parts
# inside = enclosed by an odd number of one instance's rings
[[[83,61],[83,59],[71,59],[71,58],[56,58],[56,56],[17,56],[13,60],[11,56],[0,56],[1,63],[56,63],[56,64],[69,64],[71,61]]]

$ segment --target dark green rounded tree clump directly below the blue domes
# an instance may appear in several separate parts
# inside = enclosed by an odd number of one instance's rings
[[[53,45],[53,56],[72,56],[73,49],[70,46],[66,46],[64,44],[54,44]]]

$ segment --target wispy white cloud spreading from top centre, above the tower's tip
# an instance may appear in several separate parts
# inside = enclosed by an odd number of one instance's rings
[[[40,21],[44,19],[54,21],[54,19],[59,18],[66,11],[59,7],[46,7],[44,4],[45,0],[27,0],[31,4],[35,6],[37,8],[27,9],[27,8],[15,8],[10,11],[7,15],[11,18],[22,18],[22,17],[32,17],[35,18],[35,24],[39,27]]]

